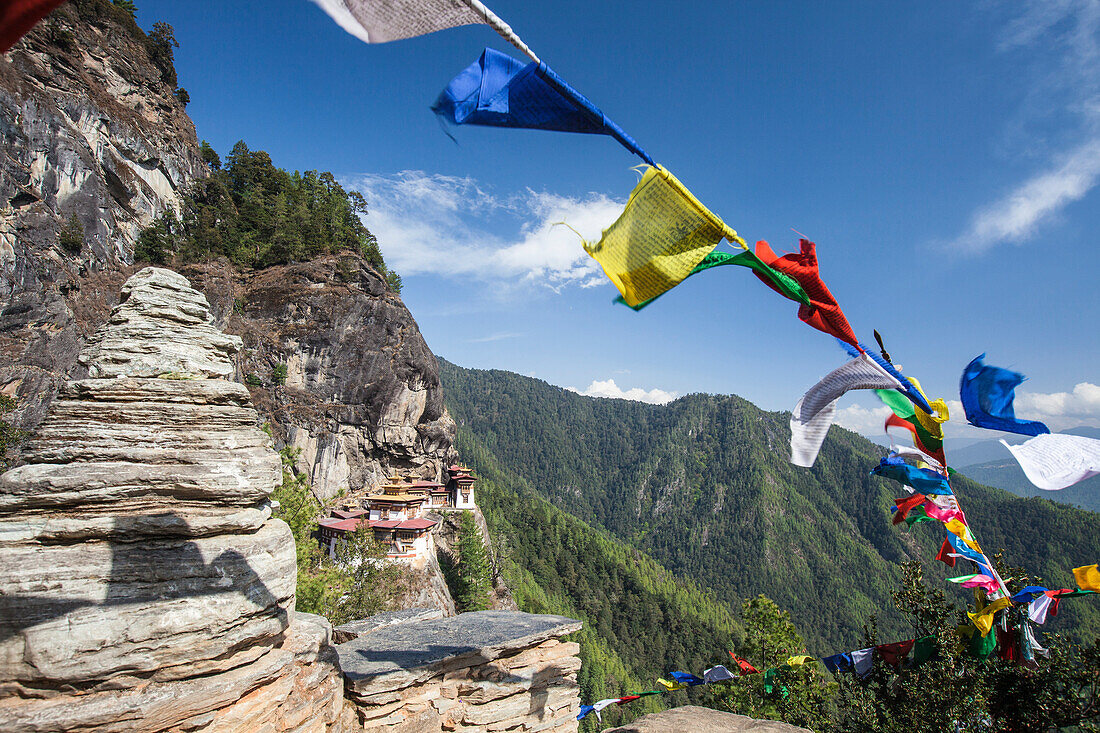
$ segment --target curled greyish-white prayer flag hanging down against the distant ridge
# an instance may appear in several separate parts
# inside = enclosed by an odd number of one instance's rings
[[[817,460],[836,405],[850,390],[897,390],[901,383],[866,353],[822,378],[802,395],[791,413],[791,462],[810,468]]]

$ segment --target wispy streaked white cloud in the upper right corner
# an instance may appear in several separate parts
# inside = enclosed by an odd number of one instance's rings
[[[1000,50],[1033,62],[1026,80],[1030,113],[1043,120],[1068,114],[1062,127],[1071,142],[1046,152],[1038,172],[972,215],[952,242],[963,252],[1024,241],[1100,183],[1100,0],[1032,0],[1008,7],[1023,10],[1005,26]],[[1022,136],[1028,146],[1044,138],[1037,131]]]

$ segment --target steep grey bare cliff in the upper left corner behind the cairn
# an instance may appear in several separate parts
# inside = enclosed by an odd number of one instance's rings
[[[0,56],[0,390],[33,427],[113,305],[110,274],[206,167],[144,34],[106,0],[62,6]]]

